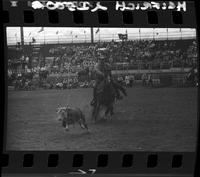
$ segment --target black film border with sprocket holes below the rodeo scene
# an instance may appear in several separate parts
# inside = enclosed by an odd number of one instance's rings
[[[189,152],[10,152],[3,173],[192,174]]]

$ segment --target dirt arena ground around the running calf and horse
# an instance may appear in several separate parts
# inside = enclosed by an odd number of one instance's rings
[[[7,150],[194,151],[197,88],[129,88],[112,120],[91,122],[92,89],[9,91]],[[58,106],[80,107],[90,133],[66,132]]]

